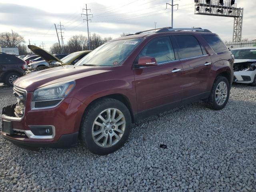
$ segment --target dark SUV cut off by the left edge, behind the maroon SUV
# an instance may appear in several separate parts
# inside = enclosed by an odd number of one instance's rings
[[[0,53],[0,82],[13,86],[13,82],[23,76],[26,61],[14,54]]]

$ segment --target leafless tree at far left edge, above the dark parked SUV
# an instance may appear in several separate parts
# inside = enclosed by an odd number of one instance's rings
[[[21,43],[24,43],[24,37],[20,36],[18,33],[13,32],[3,32],[0,33],[0,46],[6,48],[16,47]]]

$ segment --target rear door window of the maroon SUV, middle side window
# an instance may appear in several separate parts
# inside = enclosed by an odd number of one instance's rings
[[[179,46],[180,59],[204,55],[198,40],[192,35],[174,36]],[[203,48],[204,49],[204,48]],[[204,50],[205,52],[205,50]]]

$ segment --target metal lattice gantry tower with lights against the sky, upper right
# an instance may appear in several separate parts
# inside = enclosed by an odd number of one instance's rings
[[[234,18],[233,42],[242,40],[244,8],[237,8],[235,0],[194,0],[195,14]]]

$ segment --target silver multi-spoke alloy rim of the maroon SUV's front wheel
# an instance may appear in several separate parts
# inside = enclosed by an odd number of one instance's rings
[[[108,108],[98,114],[92,125],[94,142],[104,148],[117,144],[125,131],[124,114],[116,108]]]

